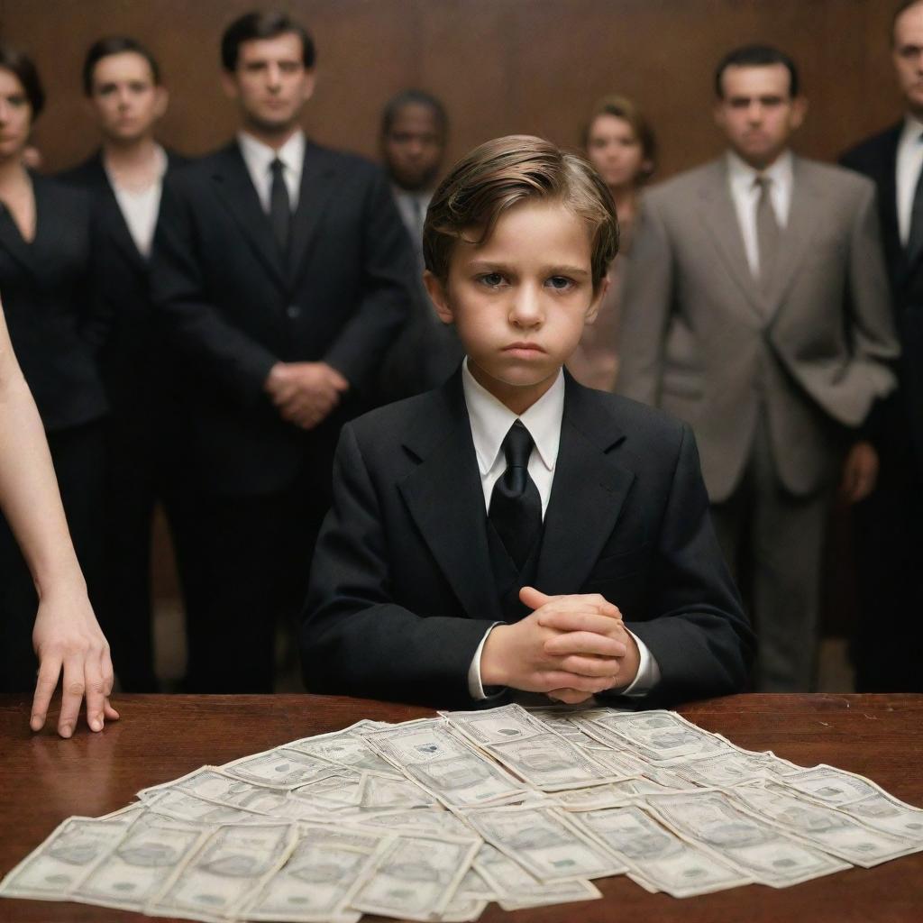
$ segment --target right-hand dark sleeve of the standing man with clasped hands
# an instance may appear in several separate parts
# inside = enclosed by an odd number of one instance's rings
[[[367,390],[397,337],[413,299],[414,256],[384,174],[368,184],[362,222],[364,294],[325,359],[350,384]]]

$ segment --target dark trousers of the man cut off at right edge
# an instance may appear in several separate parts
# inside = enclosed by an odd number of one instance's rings
[[[879,447],[878,486],[855,511],[857,692],[923,692],[923,476],[908,428]]]

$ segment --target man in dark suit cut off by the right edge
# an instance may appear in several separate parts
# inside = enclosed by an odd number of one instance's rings
[[[892,54],[906,114],[842,159],[878,186],[878,217],[901,341],[898,389],[870,435],[878,488],[857,509],[862,692],[923,691],[923,3],[898,7]]]

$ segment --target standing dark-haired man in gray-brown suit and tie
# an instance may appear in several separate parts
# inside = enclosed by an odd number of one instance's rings
[[[785,54],[726,55],[715,90],[729,150],[644,200],[618,388],[694,427],[760,636],[757,688],[807,690],[833,488],[874,486],[861,427],[894,387],[875,193],[789,150],[807,103]]]

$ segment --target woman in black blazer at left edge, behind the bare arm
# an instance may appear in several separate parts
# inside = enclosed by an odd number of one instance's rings
[[[101,576],[106,400],[90,342],[102,338],[103,328],[90,297],[90,201],[81,190],[22,165],[43,102],[30,59],[0,45],[0,294],[93,599]],[[16,434],[0,438],[15,440]],[[35,685],[31,636],[37,606],[30,569],[0,520],[0,691]]]

